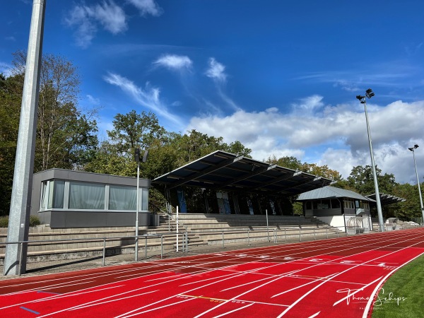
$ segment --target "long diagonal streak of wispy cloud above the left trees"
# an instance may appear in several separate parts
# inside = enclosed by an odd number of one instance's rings
[[[121,88],[126,94],[129,94],[140,105],[150,108],[159,116],[165,117],[174,124],[179,124],[179,118],[168,112],[166,105],[160,100],[159,88],[153,88],[149,83],[146,83],[144,88],[136,86],[133,81],[120,76],[116,73],[107,73],[103,77],[107,83]]]

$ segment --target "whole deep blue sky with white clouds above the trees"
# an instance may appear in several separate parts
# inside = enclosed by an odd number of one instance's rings
[[[30,0],[0,12],[0,71],[28,47]],[[47,1],[43,52],[73,61],[80,105],[101,107],[100,138],[118,112],[154,112],[196,129],[293,155],[348,177],[375,162],[398,182],[424,173],[424,2],[280,0]],[[423,179],[421,179],[421,182]]]

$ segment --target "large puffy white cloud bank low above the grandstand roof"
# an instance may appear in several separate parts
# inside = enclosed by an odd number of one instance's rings
[[[295,105],[288,114],[273,107],[262,112],[238,110],[228,116],[193,117],[184,130],[223,136],[225,142],[238,140],[252,148],[252,156],[258,160],[270,155],[293,155],[310,163],[314,160],[344,178],[355,165],[370,165],[365,114],[359,103],[324,106],[322,98],[314,95]],[[424,148],[420,121],[424,100],[397,101],[384,107],[370,104],[368,117],[377,166],[383,174],[393,173],[397,182],[416,182],[408,147],[418,143]],[[424,151],[421,154],[419,150],[416,159],[423,162]]]

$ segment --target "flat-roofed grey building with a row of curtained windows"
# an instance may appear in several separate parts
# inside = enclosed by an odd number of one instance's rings
[[[151,223],[150,179],[139,179],[139,227]],[[64,169],[35,173],[31,215],[50,228],[135,226],[136,178]]]

